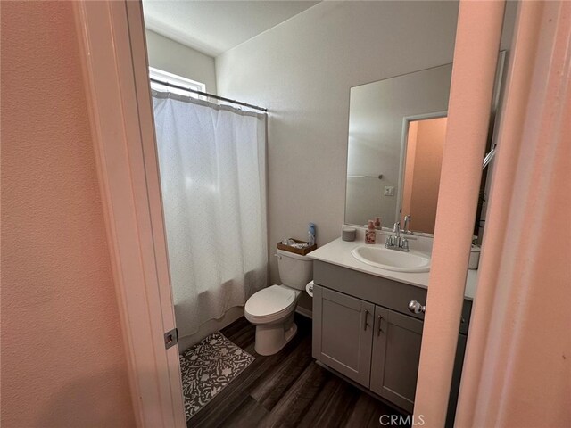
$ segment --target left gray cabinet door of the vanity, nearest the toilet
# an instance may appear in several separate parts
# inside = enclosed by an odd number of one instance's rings
[[[375,306],[313,287],[313,358],[368,388]]]

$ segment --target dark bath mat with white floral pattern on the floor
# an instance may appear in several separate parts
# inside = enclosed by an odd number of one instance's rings
[[[180,355],[180,373],[186,420],[208,404],[253,360],[222,333],[213,333],[185,350]]]

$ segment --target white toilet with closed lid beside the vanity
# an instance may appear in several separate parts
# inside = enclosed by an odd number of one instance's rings
[[[272,355],[297,333],[294,312],[313,274],[313,260],[289,251],[277,251],[277,268],[283,284],[271,285],[246,301],[244,316],[256,326],[255,350]]]

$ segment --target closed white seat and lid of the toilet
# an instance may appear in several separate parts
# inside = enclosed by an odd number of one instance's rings
[[[255,292],[246,301],[244,312],[252,320],[272,322],[292,312],[297,303],[299,292],[284,285],[271,285]]]

